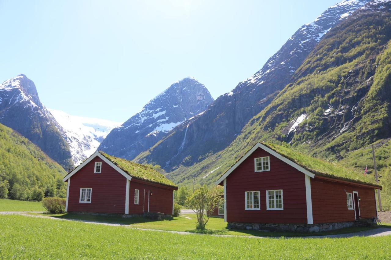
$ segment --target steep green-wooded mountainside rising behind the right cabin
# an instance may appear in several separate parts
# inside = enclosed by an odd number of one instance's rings
[[[384,204],[389,205],[390,8],[388,2],[367,5],[330,30],[292,82],[228,148],[191,167],[180,166],[169,177],[177,183],[197,178],[199,184],[211,185],[258,141],[289,143],[290,149],[362,173],[367,166],[372,175],[369,145],[375,143]]]

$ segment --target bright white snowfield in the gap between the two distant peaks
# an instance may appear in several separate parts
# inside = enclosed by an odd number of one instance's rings
[[[49,111],[62,127],[60,132],[66,135],[65,140],[69,144],[75,165],[93,154],[109,132],[121,125],[104,119],[71,116],[55,109]]]

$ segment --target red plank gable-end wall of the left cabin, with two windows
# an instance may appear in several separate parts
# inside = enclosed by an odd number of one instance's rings
[[[95,162],[102,172],[94,173]],[[91,203],[79,203],[80,188],[92,188]],[[125,213],[126,178],[95,157],[70,178],[68,212]]]

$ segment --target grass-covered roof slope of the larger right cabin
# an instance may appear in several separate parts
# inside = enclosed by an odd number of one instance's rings
[[[343,167],[334,162],[328,162],[309,155],[304,155],[296,150],[293,150],[291,147],[270,143],[262,144],[315,175],[381,187],[376,183],[373,175],[364,175],[364,172],[359,173],[355,169]]]

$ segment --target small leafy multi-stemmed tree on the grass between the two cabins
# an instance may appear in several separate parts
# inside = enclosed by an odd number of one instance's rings
[[[212,189],[209,191],[206,187],[201,187],[186,199],[185,206],[192,209],[197,216],[197,229],[205,229],[210,214],[219,205],[224,203],[221,194]]]

